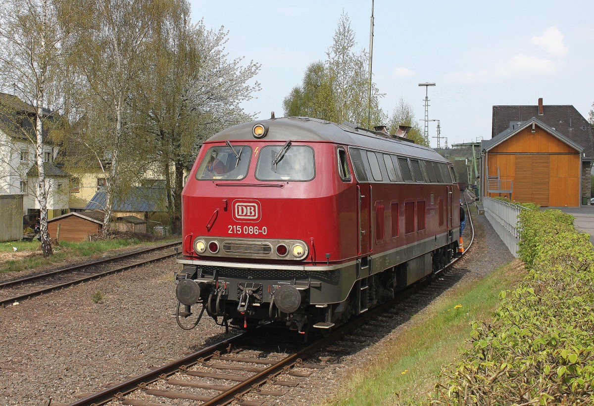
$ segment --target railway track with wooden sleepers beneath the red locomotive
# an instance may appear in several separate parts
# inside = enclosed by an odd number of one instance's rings
[[[474,240],[469,210],[467,218],[472,239],[465,253]],[[370,309],[312,344],[292,341],[295,340],[294,335],[292,338],[279,337],[280,334],[286,334],[286,331],[272,333],[270,329],[273,326],[263,325],[112,385],[96,394],[80,394],[78,397],[81,399],[69,405],[52,405],[93,406],[114,402],[114,405],[170,406],[183,399],[203,406],[226,405],[231,402],[242,406],[261,406],[267,399],[282,397],[287,387],[297,386],[301,379],[311,374],[312,369],[324,368],[323,364],[304,363],[304,359],[324,348],[330,352],[340,352],[352,347],[353,342],[365,342],[365,337],[373,335],[370,334],[370,329],[374,331],[385,328],[381,318],[390,318],[386,314],[393,312],[397,303],[403,306],[402,302],[414,294],[431,295],[432,291],[447,287],[442,271],[451,268],[460,258],[462,257],[454,259],[431,278],[420,283],[425,283],[426,287],[419,289],[418,285],[413,285],[398,294],[394,300]],[[251,342],[257,343],[255,350]],[[275,351],[279,342],[285,347],[295,349]],[[342,347],[341,342],[345,343]]]

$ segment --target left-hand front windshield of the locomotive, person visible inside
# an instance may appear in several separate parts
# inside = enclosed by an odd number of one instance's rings
[[[244,179],[252,148],[247,145],[210,147],[196,172],[196,179]]]

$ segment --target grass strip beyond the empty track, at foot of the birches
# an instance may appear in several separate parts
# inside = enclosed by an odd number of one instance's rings
[[[11,257],[0,262],[0,274],[5,272],[18,272],[26,269],[47,267],[52,264],[59,264],[67,259],[90,259],[104,255],[108,252],[114,252],[121,249],[132,249],[137,246],[148,246],[160,243],[166,243],[165,239],[154,242],[143,242],[137,239],[113,239],[100,241],[84,242],[60,242],[60,245],[53,246],[53,255],[43,258],[40,243],[38,241],[13,241],[0,243],[0,258]],[[16,252],[14,248],[17,248]]]

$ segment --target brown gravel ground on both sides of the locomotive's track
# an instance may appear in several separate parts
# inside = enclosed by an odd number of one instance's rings
[[[476,245],[457,265],[458,283],[513,259],[484,216],[475,217],[475,227]],[[69,403],[75,394],[99,391],[218,341],[224,328],[208,317],[192,331],[176,325],[176,268],[170,259],[0,309],[0,405],[45,405],[49,398]],[[93,303],[97,291],[106,297]],[[314,370],[279,404],[315,404],[336,394],[349,371],[377,357],[390,335],[432,299],[403,307],[390,319],[391,333]]]

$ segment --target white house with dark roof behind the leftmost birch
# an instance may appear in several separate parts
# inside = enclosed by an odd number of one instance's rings
[[[48,218],[68,211],[69,173],[55,164],[59,147],[53,142],[50,125],[55,120],[47,116],[43,130],[43,167],[49,182]],[[35,109],[17,96],[0,93],[0,194],[23,195],[23,215],[39,213],[35,198],[39,183],[35,145]]]

